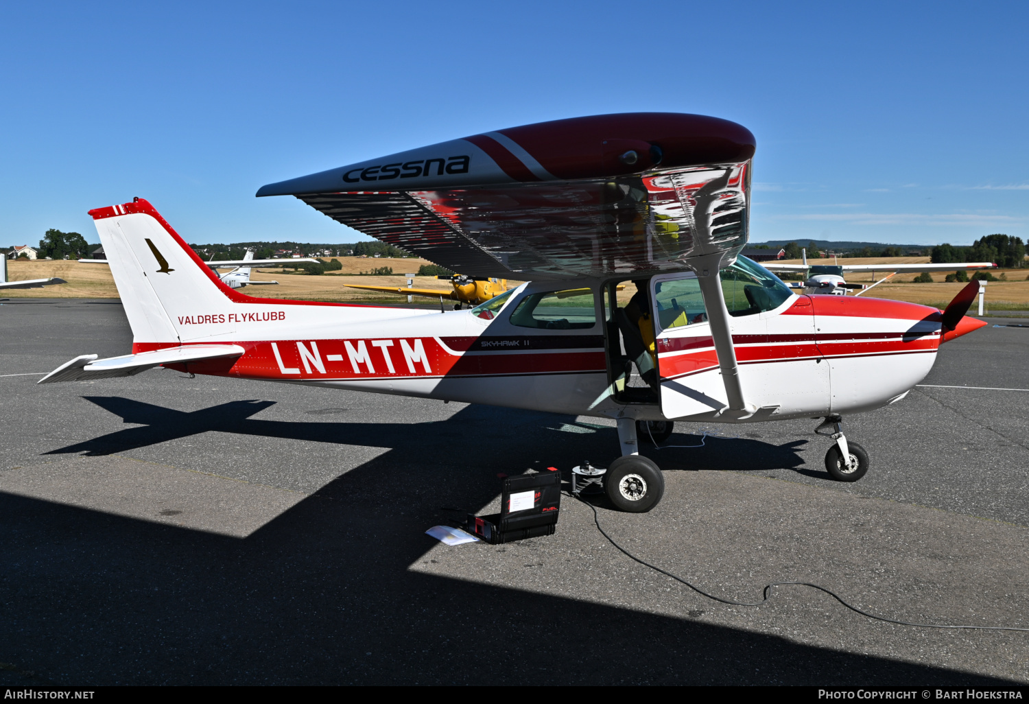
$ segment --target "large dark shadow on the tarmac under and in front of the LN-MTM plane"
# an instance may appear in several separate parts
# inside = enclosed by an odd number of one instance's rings
[[[12,614],[8,635],[0,641],[0,661],[31,666],[52,679],[196,684],[1001,681],[801,645],[698,619],[410,569],[438,544],[423,531],[453,519],[441,506],[474,511],[486,505],[498,493],[498,469],[539,463],[567,467],[591,454],[609,455],[616,447],[613,429],[540,432],[561,419],[484,407],[468,407],[435,423],[291,423],[253,419],[269,401],[181,413],[127,398],[91,400],[127,422],[146,425],[50,454],[125,452],[212,430],[390,449],[244,539],[0,493],[0,530],[6,536],[0,585]],[[461,439],[460,453],[454,451],[455,437]],[[723,460],[734,452],[742,457],[751,447],[726,453],[717,446],[712,452]],[[777,451],[768,452],[777,459]],[[781,452],[795,456],[792,449]],[[560,525],[556,536],[544,539],[560,540]]]

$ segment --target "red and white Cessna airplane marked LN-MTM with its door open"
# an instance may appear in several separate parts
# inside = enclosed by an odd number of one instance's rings
[[[864,450],[842,416],[899,401],[941,343],[985,323],[895,301],[797,294],[738,252],[754,138],[674,113],[578,117],[473,135],[261,187],[469,276],[527,281],[469,311],[250,297],[144,200],[91,211],[132,354],[76,357],[39,383],[167,366],[193,374],[614,419],[605,492],[664,491],[639,435],[675,420],[824,418],[829,473]],[[619,300],[617,285],[636,292]],[[627,287],[625,293],[630,289]],[[633,374],[642,385],[629,382]],[[642,432],[638,432],[641,430]]]

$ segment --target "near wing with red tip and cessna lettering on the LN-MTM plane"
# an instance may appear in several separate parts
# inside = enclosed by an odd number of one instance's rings
[[[747,241],[753,135],[596,115],[473,135],[261,187],[473,277],[686,271]],[[728,263],[728,261],[726,261]]]

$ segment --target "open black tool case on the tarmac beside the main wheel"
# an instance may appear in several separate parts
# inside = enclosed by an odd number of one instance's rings
[[[500,495],[500,513],[469,515],[465,530],[495,545],[553,535],[560,508],[561,472],[558,470],[507,477]]]

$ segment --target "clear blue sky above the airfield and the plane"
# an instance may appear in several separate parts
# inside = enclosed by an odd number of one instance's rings
[[[365,239],[262,184],[505,127],[757,137],[751,240],[1029,239],[1029,3],[0,5],[0,245],[148,199],[190,242]]]

